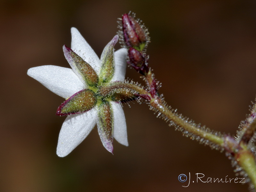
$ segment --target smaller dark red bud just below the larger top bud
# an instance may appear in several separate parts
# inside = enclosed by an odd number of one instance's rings
[[[138,50],[130,47],[128,50],[129,61],[128,63],[141,75],[148,73],[148,63],[145,56]]]

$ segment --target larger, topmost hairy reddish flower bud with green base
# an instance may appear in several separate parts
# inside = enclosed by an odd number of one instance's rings
[[[129,14],[123,15],[122,27],[126,46],[142,51],[149,41],[148,30]]]

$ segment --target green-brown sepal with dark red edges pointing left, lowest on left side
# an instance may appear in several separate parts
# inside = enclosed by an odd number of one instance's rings
[[[56,115],[67,116],[83,113],[92,109],[97,103],[96,94],[90,89],[83,89],[76,92],[62,103],[57,109]]]

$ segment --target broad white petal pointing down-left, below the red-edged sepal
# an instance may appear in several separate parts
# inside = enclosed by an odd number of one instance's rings
[[[96,108],[85,113],[69,115],[60,130],[57,155],[60,157],[67,156],[87,137],[95,124]]]

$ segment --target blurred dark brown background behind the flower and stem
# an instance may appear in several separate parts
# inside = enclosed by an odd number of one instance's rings
[[[196,182],[196,173],[203,181],[236,176],[224,153],[182,137],[137,102],[124,105],[129,147],[114,141],[113,156],[94,129],[67,157],[56,155],[65,117],[55,112],[64,100],[28,68],[69,67],[62,46],[70,46],[71,27],[100,56],[129,11],[149,29],[149,65],[165,100],[196,123],[236,134],[256,94],[255,1],[2,0],[0,191],[247,191],[247,184]],[[132,69],[126,76],[143,83]],[[184,188],[178,176],[189,172]]]

